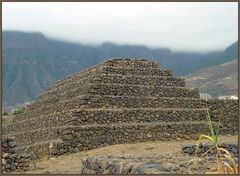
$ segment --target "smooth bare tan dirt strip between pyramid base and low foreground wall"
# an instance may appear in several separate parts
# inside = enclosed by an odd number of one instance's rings
[[[236,142],[238,136],[221,136],[221,142]],[[59,156],[53,159],[43,159],[36,163],[36,169],[28,171],[31,174],[80,174],[82,169],[81,160],[90,156],[107,155],[136,155],[154,156],[168,155],[181,152],[182,144],[196,144],[197,141],[155,141],[136,144],[118,144],[106,146],[94,150]]]

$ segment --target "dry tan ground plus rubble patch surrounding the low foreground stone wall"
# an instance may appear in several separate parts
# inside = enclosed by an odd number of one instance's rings
[[[236,142],[238,136],[221,136],[220,142]],[[215,166],[213,158],[207,156],[202,160],[194,156],[182,154],[181,146],[184,144],[196,144],[196,141],[156,141],[137,144],[119,144],[102,147],[94,150],[83,151],[57,158],[43,159],[32,163],[31,174],[80,174],[82,173],[82,160],[88,157],[134,157],[158,162],[162,168],[172,173],[206,173]],[[237,160],[237,158],[235,158]],[[190,170],[189,170],[190,168]]]

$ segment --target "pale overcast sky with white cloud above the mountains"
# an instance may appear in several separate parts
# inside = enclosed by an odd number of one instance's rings
[[[84,44],[110,41],[204,52],[238,39],[237,2],[3,2],[2,10],[3,30],[38,31]]]

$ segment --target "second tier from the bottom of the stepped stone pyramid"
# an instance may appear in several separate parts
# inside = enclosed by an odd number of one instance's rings
[[[74,110],[61,114],[50,114],[38,118],[30,118],[3,127],[8,134],[36,129],[47,129],[63,125],[91,125],[91,124],[118,124],[122,122],[178,122],[178,121],[204,121],[206,119],[205,109],[122,109],[122,110]]]

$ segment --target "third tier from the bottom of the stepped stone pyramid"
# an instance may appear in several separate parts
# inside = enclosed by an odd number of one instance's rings
[[[119,108],[157,108],[164,110],[166,108],[189,109],[189,108],[205,108],[205,103],[199,99],[188,98],[171,98],[171,97],[136,97],[136,96],[78,96],[69,101],[61,101],[49,106],[44,106],[22,114],[16,118],[13,125],[23,120],[31,120],[33,117],[41,116],[57,116],[58,112],[73,111],[79,109],[82,111],[97,109],[119,109]],[[193,116],[193,114],[191,114]],[[40,117],[40,116],[39,116]],[[193,117],[194,118],[194,117]]]

